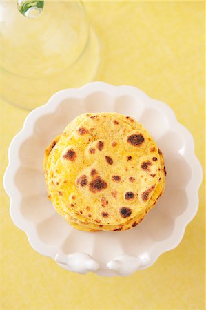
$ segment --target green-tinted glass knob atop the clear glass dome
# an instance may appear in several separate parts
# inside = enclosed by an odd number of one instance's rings
[[[25,17],[38,17],[44,6],[43,0],[17,0],[19,12]]]

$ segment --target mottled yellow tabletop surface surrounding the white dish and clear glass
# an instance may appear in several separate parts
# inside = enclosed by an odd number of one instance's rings
[[[101,40],[96,80],[135,85],[169,104],[204,163],[204,2],[86,2]],[[76,77],[75,77],[76,78]],[[18,94],[17,94],[18,96]],[[2,170],[28,112],[2,103]],[[2,309],[205,309],[205,201],[181,245],[127,278],[81,276],[36,253],[2,192]]]

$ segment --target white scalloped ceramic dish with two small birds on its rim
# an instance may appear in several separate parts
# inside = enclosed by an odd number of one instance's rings
[[[83,112],[119,112],[136,118],[165,156],[165,193],[134,229],[78,231],[56,214],[47,199],[42,169],[45,147]],[[151,266],[158,256],[181,242],[198,209],[201,180],[193,138],[167,105],[135,87],[94,82],[61,90],[28,115],[9,148],[4,187],[10,196],[12,220],[40,254],[71,271],[124,276]]]

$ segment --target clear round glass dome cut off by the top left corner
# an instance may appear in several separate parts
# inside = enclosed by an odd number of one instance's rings
[[[81,1],[1,1],[1,46],[1,96],[27,110],[92,81],[99,66]]]

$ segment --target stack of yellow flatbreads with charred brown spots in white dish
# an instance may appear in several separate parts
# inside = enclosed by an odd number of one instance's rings
[[[162,192],[158,148],[128,116],[82,114],[56,142],[45,152],[48,190],[56,211],[76,225],[119,229]]]

